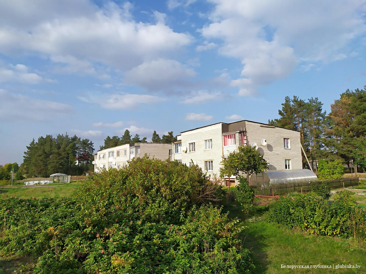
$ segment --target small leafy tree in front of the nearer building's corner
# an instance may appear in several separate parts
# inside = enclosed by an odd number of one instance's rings
[[[229,154],[227,159],[221,161],[220,177],[230,175],[238,176],[240,172],[246,172],[247,180],[253,173],[261,173],[268,169],[268,163],[263,155],[255,147],[239,145],[237,151]]]

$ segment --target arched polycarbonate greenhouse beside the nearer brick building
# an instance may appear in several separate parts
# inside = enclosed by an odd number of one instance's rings
[[[311,170],[270,170],[250,177],[249,185],[254,189],[270,187],[303,186],[317,181],[318,177]]]

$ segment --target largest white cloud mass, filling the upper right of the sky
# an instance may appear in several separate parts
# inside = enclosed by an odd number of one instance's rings
[[[358,0],[334,5],[325,0],[209,1],[214,4],[211,23],[199,31],[208,41],[223,42],[220,54],[242,62],[240,77],[231,82],[239,95],[255,94],[299,63],[306,68],[346,58],[341,51],[366,31],[366,5]]]

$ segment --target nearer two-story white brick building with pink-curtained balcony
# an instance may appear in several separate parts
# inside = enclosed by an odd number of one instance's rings
[[[256,146],[269,170],[302,169],[300,133],[252,121],[216,123],[181,132],[172,160],[197,164],[207,175],[220,174],[221,161],[239,145]]]

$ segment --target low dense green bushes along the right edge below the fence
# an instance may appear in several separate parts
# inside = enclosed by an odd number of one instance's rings
[[[329,204],[327,200],[312,193],[283,197],[273,202],[266,218],[288,228],[298,227],[310,234],[366,240],[365,212],[354,203]]]

